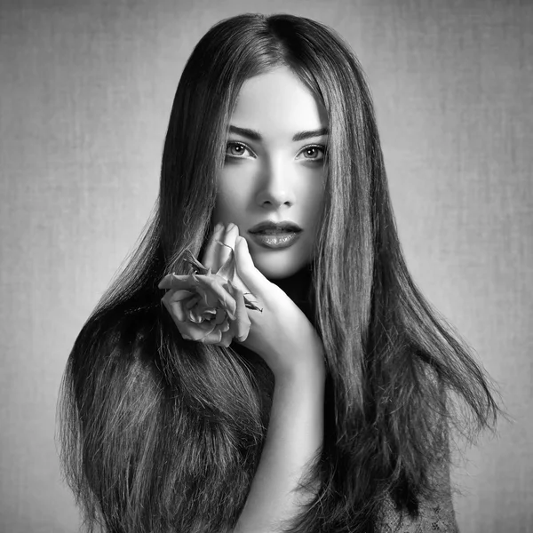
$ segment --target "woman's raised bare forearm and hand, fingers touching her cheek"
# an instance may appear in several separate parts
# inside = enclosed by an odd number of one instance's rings
[[[215,241],[235,243],[237,287],[251,292],[262,309],[250,311],[251,329],[242,342],[259,354],[274,373],[274,395],[267,438],[251,490],[235,533],[282,531],[314,497],[314,490],[298,488],[323,440],[323,402],[326,377],[323,346],[313,325],[294,302],[259,272],[238,227],[221,227],[211,237],[203,265],[211,262]],[[220,259],[219,259],[220,261]]]

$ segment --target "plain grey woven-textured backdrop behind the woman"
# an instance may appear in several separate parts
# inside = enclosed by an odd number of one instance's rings
[[[374,93],[402,242],[513,423],[457,467],[463,533],[533,531],[533,3],[1,3],[0,531],[76,531],[60,377],[152,206],[194,44],[239,12],[338,30]]]

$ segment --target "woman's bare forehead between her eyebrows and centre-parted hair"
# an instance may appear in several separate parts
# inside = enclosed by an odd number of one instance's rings
[[[326,127],[328,117],[298,76],[282,67],[243,83],[231,124],[260,131],[267,139]]]

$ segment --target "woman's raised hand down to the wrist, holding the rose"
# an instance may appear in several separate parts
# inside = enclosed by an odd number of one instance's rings
[[[251,330],[241,344],[259,354],[275,378],[293,378],[309,371],[323,374],[323,346],[313,324],[282,289],[254,266],[248,243],[239,236],[238,227],[230,224],[214,232],[201,260],[203,266],[216,271],[226,261],[230,251],[217,240],[235,251],[235,286],[249,293],[247,298],[262,309],[248,310]]]

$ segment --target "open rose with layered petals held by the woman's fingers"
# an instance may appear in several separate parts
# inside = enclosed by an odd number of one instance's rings
[[[248,337],[251,326],[246,308],[260,309],[232,282],[235,275],[233,250],[216,274],[211,273],[211,268],[203,267],[189,251],[187,254],[184,260],[195,268],[196,273],[167,274],[158,285],[160,289],[167,289],[162,303],[181,336],[226,347],[233,338],[242,342]]]

